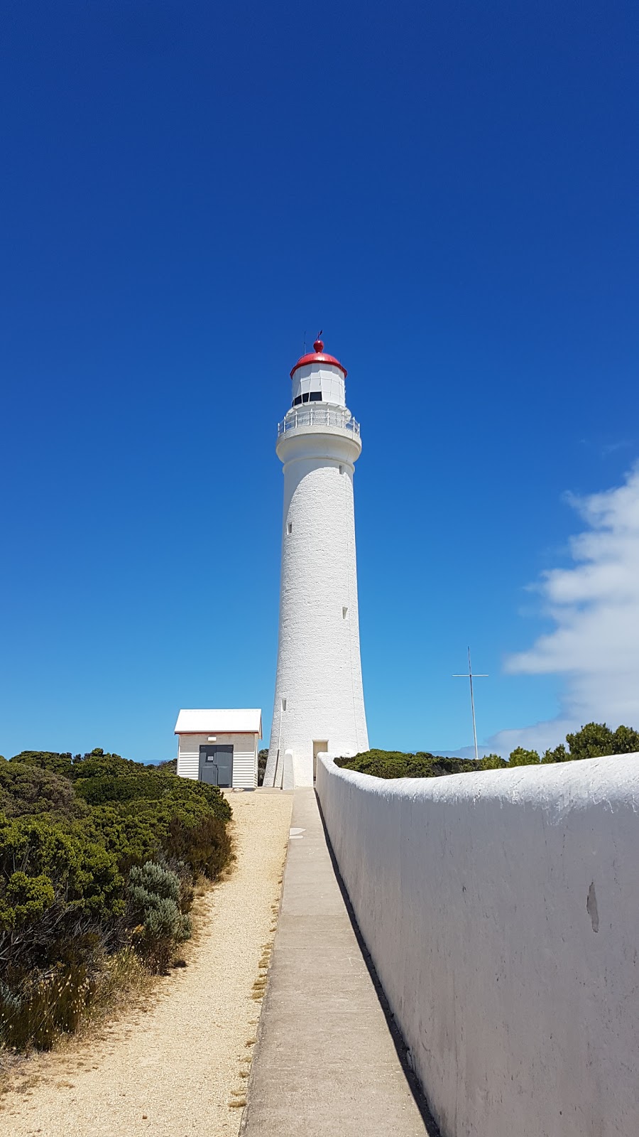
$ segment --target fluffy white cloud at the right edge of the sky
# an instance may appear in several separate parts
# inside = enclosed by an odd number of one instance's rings
[[[490,742],[556,746],[592,720],[639,728],[639,464],[622,485],[567,501],[587,529],[570,542],[574,564],[534,586],[556,626],[506,661],[511,674],[565,677],[561,715]]]

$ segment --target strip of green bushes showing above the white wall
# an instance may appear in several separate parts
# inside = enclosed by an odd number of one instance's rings
[[[606,723],[589,722],[574,735],[566,735],[555,749],[541,756],[537,750],[518,746],[512,750],[506,762],[498,754],[487,754],[483,758],[448,758],[417,752],[404,754],[400,750],[365,750],[352,758],[335,758],[342,770],[355,770],[373,778],[440,778],[443,774],[473,773],[478,770],[508,770],[513,766],[543,765],[555,762],[574,762],[581,758],[600,758],[611,754],[639,753],[639,731],[631,727],[611,730]]]

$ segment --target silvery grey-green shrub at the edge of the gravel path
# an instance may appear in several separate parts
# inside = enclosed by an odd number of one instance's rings
[[[140,952],[153,970],[165,971],[176,947],[191,936],[191,919],[180,907],[180,880],[147,861],[131,870],[127,893]]]

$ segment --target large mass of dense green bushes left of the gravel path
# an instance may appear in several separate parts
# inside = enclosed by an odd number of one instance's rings
[[[231,860],[215,786],[100,749],[0,758],[0,1046],[49,1048],[165,971]]]

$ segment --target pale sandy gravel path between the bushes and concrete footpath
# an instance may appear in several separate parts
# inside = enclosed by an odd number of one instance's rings
[[[292,795],[258,790],[231,803],[236,865],[199,902],[189,965],[163,979],[146,1009],[23,1067],[19,1088],[1,1098],[1,1134],[238,1137]]]

